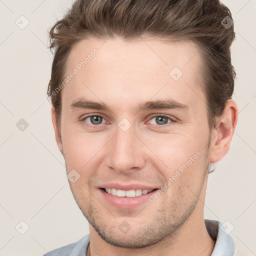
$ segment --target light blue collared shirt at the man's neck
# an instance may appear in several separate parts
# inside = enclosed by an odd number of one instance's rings
[[[210,237],[216,241],[211,256],[233,256],[234,241],[229,234],[223,231],[222,223],[211,219],[204,219],[204,222]],[[86,256],[89,240],[90,236],[87,234],[79,241],[51,250],[43,256]]]

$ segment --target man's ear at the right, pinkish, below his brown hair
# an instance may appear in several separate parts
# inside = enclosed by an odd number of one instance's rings
[[[236,103],[228,99],[221,117],[217,120],[212,132],[210,162],[219,161],[229,149],[229,145],[237,123],[238,108]]]

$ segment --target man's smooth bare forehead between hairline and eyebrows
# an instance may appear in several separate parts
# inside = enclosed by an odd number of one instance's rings
[[[63,88],[62,100],[86,96],[123,105],[130,100],[171,97],[189,103],[195,93],[204,97],[200,64],[198,48],[191,41],[82,40],[68,56],[66,74],[74,69],[76,74]]]

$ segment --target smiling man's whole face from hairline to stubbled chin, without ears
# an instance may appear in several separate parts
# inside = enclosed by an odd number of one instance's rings
[[[154,244],[199,210],[210,133],[197,51],[116,38],[70,52],[66,74],[77,73],[61,91],[59,146],[78,206],[110,244]]]

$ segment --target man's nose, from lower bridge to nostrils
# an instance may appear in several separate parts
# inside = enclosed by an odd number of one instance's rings
[[[141,169],[146,162],[144,145],[134,134],[132,128],[127,131],[116,129],[115,136],[107,145],[106,165],[118,172]]]

